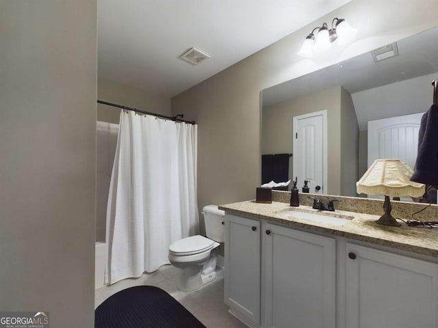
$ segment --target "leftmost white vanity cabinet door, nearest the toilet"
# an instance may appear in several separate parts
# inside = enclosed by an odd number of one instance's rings
[[[260,323],[260,247],[259,221],[225,215],[225,303],[253,326]]]

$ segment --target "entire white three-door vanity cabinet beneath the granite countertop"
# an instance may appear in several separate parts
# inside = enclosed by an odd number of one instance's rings
[[[253,328],[438,328],[437,259],[350,241],[226,212],[231,314]]]

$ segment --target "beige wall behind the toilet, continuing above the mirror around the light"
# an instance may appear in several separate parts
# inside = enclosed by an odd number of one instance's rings
[[[359,27],[346,48],[324,58],[302,59],[296,52],[315,26],[345,17]],[[290,36],[172,98],[172,113],[196,120],[198,204],[223,204],[255,198],[260,182],[260,91],[313,70],[355,57],[438,22],[436,0],[353,0]]]

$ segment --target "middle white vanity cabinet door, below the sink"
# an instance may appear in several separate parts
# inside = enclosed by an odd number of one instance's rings
[[[335,239],[263,223],[264,325],[335,328]]]

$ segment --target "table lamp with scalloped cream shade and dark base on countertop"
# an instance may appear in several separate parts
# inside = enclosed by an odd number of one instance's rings
[[[411,167],[399,159],[376,159],[356,182],[357,193],[367,195],[385,195],[383,208],[385,214],[376,222],[384,226],[400,227],[401,224],[391,215],[389,197],[421,197],[424,194],[424,184],[409,180],[413,174]]]

